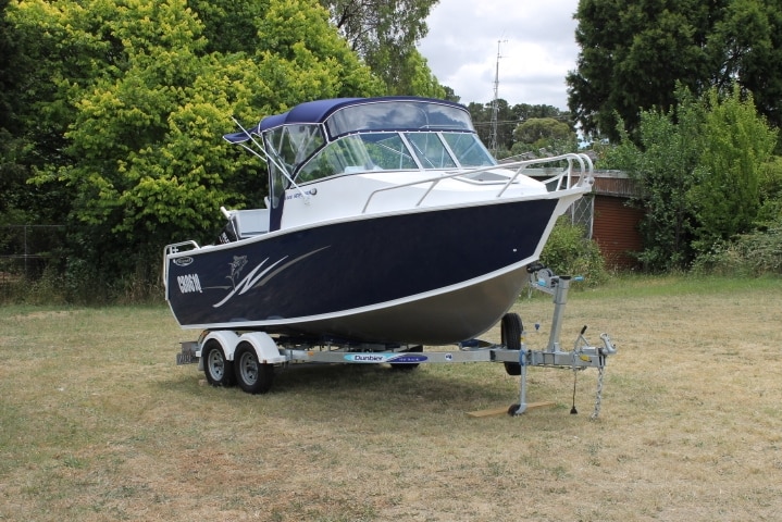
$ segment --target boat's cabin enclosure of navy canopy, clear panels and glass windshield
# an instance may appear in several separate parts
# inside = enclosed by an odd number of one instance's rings
[[[496,164],[464,107],[415,97],[301,103],[225,139],[266,161],[271,231],[280,228],[286,190],[306,197],[300,187],[337,176]]]

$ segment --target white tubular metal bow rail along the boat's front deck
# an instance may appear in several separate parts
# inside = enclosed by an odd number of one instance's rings
[[[530,165],[542,165],[542,164],[546,164],[546,163],[554,163],[557,161],[567,161],[568,166],[566,169],[563,169],[561,172],[559,172],[558,174],[542,181],[542,183],[544,185],[548,185],[551,183],[556,184],[554,189],[550,191],[567,190],[569,188],[575,187],[576,185],[582,186],[585,183],[589,183],[589,184],[592,183],[592,172],[594,170],[594,166],[592,164],[592,160],[589,159],[589,157],[586,154],[580,154],[580,153],[568,153],[568,154],[561,154],[561,156],[554,156],[550,158],[541,158],[541,159],[535,159],[535,160],[522,160],[522,161],[516,161],[512,163],[488,165],[488,166],[484,166],[484,167],[480,167],[480,169],[471,169],[469,171],[462,170],[462,171],[457,171],[457,172],[447,172],[445,175],[442,175],[442,176],[430,177],[427,179],[421,179],[418,182],[404,183],[400,185],[394,185],[393,187],[378,188],[376,190],[373,190],[372,194],[370,194],[367,197],[367,202],[364,203],[364,207],[361,210],[361,213],[362,214],[367,213],[367,209],[369,208],[370,202],[372,202],[372,198],[374,198],[374,196],[378,192],[385,192],[388,190],[397,190],[399,188],[413,187],[415,185],[423,185],[423,184],[429,183],[430,184],[429,188],[415,203],[415,207],[419,207],[419,206],[421,206],[423,200],[426,199],[426,197],[432,192],[434,187],[436,187],[437,184],[439,182],[442,182],[443,179],[457,178],[457,177],[464,176],[466,174],[477,174],[481,172],[488,172],[488,171],[493,171],[496,169],[506,169],[506,170],[516,169],[516,173],[511,177],[509,177],[507,182],[504,183],[502,188],[500,188],[499,191],[497,192],[497,195],[495,196],[496,198],[499,198],[502,196],[502,194],[505,194],[505,191],[508,189],[508,187],[510,187],[513,184],[513,182]],[[580,167],[579,181],[576,183],[573,183],[573,174],[572,174],[574,162],[578,162],[579,167]],[[460,181],[462,181],[464,183],[472,182],[471,179],[468,179],[468,178],[462,178]],[[563,185],[562,185],[562,182],[564,182]]]

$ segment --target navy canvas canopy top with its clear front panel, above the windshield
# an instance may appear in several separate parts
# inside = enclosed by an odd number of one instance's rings
[[[260,135],[285,125],[323,124],[328,138],[360,132],[467,130],[474,132],[470,113],[459,103],[431,98],[393,96],[335,98],[308,101],[288,112],[266,116],[248,133]],[[249,139],[247,133],[225,136],[231,142]]]

